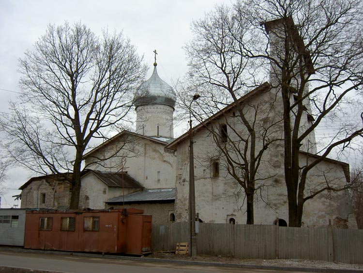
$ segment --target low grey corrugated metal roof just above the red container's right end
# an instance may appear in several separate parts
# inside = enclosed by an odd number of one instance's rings
[[[124,196],[124,202],[157,202],[175,200],[175,188],[144,190],[142,192],[130,193]],[[122,195],[109,199],[106,203],[122,203]]]

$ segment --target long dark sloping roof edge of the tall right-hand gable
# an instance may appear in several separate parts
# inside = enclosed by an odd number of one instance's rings
[[[270,83],[268,83],[266,81],[263,84],[261,84],[260,86],[258,86],[257,88],[255,88],[254,90],[248,92],[246,95],[240,97],[238,99],[238,102],[243,104],[246,101],[248,101],[249,99],[251,99],[252,97],[257,96],[257,95],[262,94],[262,93],[265,93],[266,91],[268,91],[270,89],[271,89],[271,85],[270,85]],[[213,120],[218,119],[219,117],[221,117],[223,114],[225,114],[229,110],[232,110],[235,107],[235,105],[236,104],[234,102],[227,105],[225,108],[223,108],[222,110],[216,112],[215,114],[213,114],[212,116],[207,118],[205,121],[199,123],[196,127],[193,128],[193,131],[198,131],[201,128],[209,125]],[[180,137],[178,137],[177,139],[175,139],[174,141],[172,141],[171,143],[166,145],[166,148],[176,150],[177,145],[179,145],[182,141],[184,141],[187,138],[189,138],[189,131],[185,132]]]

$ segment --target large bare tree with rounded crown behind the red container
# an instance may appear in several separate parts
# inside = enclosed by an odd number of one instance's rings
[[[122,33],[97,37],[66,22],[48,26],[19,71],[21,95],[1,122],[9,153],[37,173],[72,173],[70,209],[77,209],[83,155],[126,120],[146,67]]]

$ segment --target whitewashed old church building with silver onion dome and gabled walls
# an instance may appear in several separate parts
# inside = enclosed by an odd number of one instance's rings
[[[266,106],[276,94],[278,91],[265,83],[240,100],[246,108]],[[174,138],[175,103],[176,94],[158,76],[155,62],[151,78],[136,93],[135,132],[122,131],[85,155],[88,171],[81,179],[80,208],[144,209],[145,214],[152,215],[152,222],[158,224],[188,220],[189,137],[185,133]],[[279,100],[274,107],[277,116],[269,116],[269,120],[257,117],[261,124],[281,118],[278,116],[282,107]],[[308,113],[306,122],[309,122]],[[245,224],[245,195],[241,186],[224,169],[224,159],[218,156],[218,147],[208,130],[208,127],[225,124],[233,125],[236,131],[245,130],[234,115],[233,105],[194,128],[196,212],[200,221],[205,223]],[[231,131],[225,133],[233,138]],[[314,142],[312,134],[309,143]],[[314,145],[311,144],[310,148],[308,144],[302,147],[301,162],[317,157],[312,149]],[[273,225],[277,218],[288,222],[281,145],[270,147],[264,154],[263,162],[266,163],[260,166],[259,176],[268,178],[263,180],[261,190],[256,194],[254,224]],[[322,179],[330,179],[338,184],[348,183],[349,165],[324,159],[309,173],[311,187],[307,188],[313,189]],[[42,187],[35,187],[34,183]],[[40,208],[41,204],[44,208],[57,208],[57,187],[53,184],[47,182],[46,177],[30,179],[21,187],[22,196],[29,196],[24,205],[22,198],[21,208]],[[69,198],[69,194],[67,196]],[[42,203],[39,198],[50,201]],[[329,223],[336,227],[353,227],[355,219],[348,192],[320,193],[307,201],[302,222],[306,227],[326,226]]]

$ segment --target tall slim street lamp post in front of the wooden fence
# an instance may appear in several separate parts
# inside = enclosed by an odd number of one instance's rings
[[[193,128],[192,128],[192,103],[199,98],[199,94],[193,96],[189,104],[189,225],[190,245],[189,254],[197,256],[197,233],[196,233],[196,190],[194,184],[194,152],[193,152]]]

